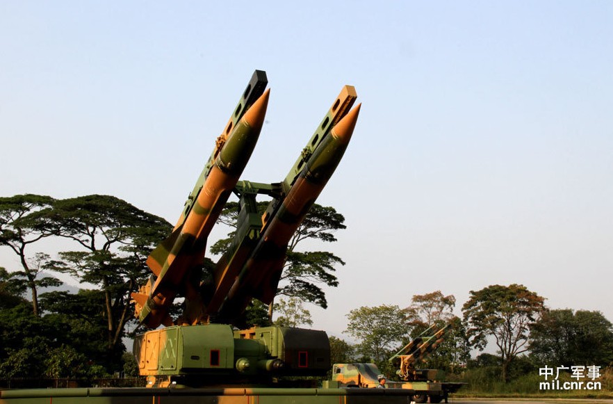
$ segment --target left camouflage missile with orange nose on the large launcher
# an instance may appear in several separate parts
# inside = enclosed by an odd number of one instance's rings
[[[179,291],[197,296],[199,280],[192,281],[197,277],[190,271],[202,263],[211,228],[250,159],[264,121],[269,94],[266,90],[236,125],[231,124],[231,118],[226,129],[229,134],[218,139],[211,156],[214,162],[200,176],[202,186],[196,185],[193,202],[188,200],[189,206],[186,204],[170,237],[147,259],[157,280],[141,288],[141,293],[133,293],[132,297],[136,301],[139,321],[148,327],[172,324],[167,309]],[[234,115],[238,113],[237,109]]]

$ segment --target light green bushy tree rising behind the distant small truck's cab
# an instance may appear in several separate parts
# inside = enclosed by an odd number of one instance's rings
[[[360,307],[347,314],[348,325],[343,331],[359,341],[357,352],[370,357],[377,366],[391,356],[409,333],[406,312],[397,305]]]

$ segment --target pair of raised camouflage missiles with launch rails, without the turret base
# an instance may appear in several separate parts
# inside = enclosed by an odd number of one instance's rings
[[[343,157],[360,109],[350,111],[357,98],[352,86],[343,87],[283,181],[241,181],[237,186],[261,131],[267,83],[265,72],[256,70],[172,234],[147,259],[156,276],[132,297],[137,318],[149,328],[235,323],[252,298],[272,302],[288,243]],[[233,191],[241,201],[236,236],[211,280],[201,282],[209,233]],[[255,195],[262,193],[273,199],[265,215],[259,216]],[[186,309],[173,322],[168,310],[177,295],[186,298]]]

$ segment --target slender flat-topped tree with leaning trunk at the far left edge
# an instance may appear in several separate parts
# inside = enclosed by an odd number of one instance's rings
[[[45,195],[15,195],[0,197],[0,245],[5,245],[17,254],[22,271],[15,278],[23,278],[22,283],[31,291],[32,310],[39,315],[38,289],[44,286],[59,286],[59,281],[52,277],[40,278],[43,255],[28,258],[26,248],[56,234],[56,228],[40,216],[40,211],[47,211],[54,204],[54,198]]]

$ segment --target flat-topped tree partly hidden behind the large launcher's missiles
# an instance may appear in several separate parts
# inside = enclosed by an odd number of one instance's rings
[[[268,202],[258,202],[259,213],[264,213]],[[238,220],[238,202],[228,202],[218,223],[228,225],[233,230],[226,239],[221,239],[211,246],[211,254],[222,254],[229,247]],[[309,213],[293,234],[286,252],[284,270],[279,280],[277,296],[300,298],[304,302],[311,302],[322,308],[327,308],[327,300],[322,286],[338,286],[338,279],[334,275],[336,265],[345,265],[345,262],[332,252],[309,251],[299,252],[297,246],[306,240],[319,240],[326,243],[336,241],[334,232],[345,229],[345,218],[336,212],[333,207],[322,207],[313,204]],[[272,305],[269,316],[272,318]]]

